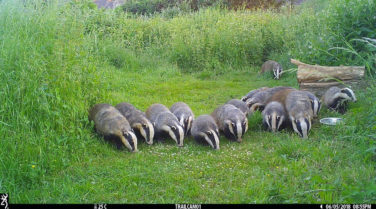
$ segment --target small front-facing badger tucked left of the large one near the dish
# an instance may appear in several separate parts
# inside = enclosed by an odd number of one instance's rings
[[[262,111],[262,123],[264,124],[265,130],[271,130],[272,132],[284,129],[287,122],[287,114],[285,107],[277,102],[272,101],[265,106],[264,111]]]

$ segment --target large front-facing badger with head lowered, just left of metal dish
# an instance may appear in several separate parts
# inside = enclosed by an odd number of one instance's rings
[[[307,94],[303,91],[291,91],[285,100],[286,112],[295,132],[306,138],[311,129],[313,111]]]

